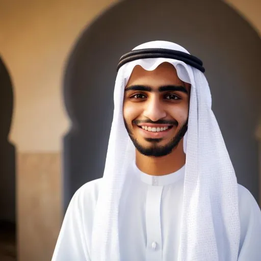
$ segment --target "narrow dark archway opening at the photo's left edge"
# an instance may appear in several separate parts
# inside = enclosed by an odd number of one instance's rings
[[[0,259],[6,260],[15,258],[15,147],[8,141],[13,115],[13,86],[1,57],[0,87]]]

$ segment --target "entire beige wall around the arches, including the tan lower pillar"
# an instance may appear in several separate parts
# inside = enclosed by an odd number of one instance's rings
[[[86,25],[116,2],[0,0],[0,53],[15,92],[10,140],[18,151],[21,261],[50,260],[62,221],[60,152],[70,125],[62,97],[65,61]],[[227,2],[261,36],[261,1]]]

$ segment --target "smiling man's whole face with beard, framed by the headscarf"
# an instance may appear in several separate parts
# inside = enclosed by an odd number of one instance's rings
[[[124,123],[136,149],[147,156],[173,151],[187,130],[190,85],[162,63],[153,71],[136,66],[125,87]]]

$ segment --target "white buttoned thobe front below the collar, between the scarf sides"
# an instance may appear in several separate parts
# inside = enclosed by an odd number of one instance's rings
[[[183,186],[135,184],[123,193],[119,214],[122,260],[175,260]]]

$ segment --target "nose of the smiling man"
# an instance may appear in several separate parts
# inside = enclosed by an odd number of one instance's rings
[[[157,121],[166,117],[167,113],[159,98],[153,97],[146,101],[143,115],[152,121]]]

